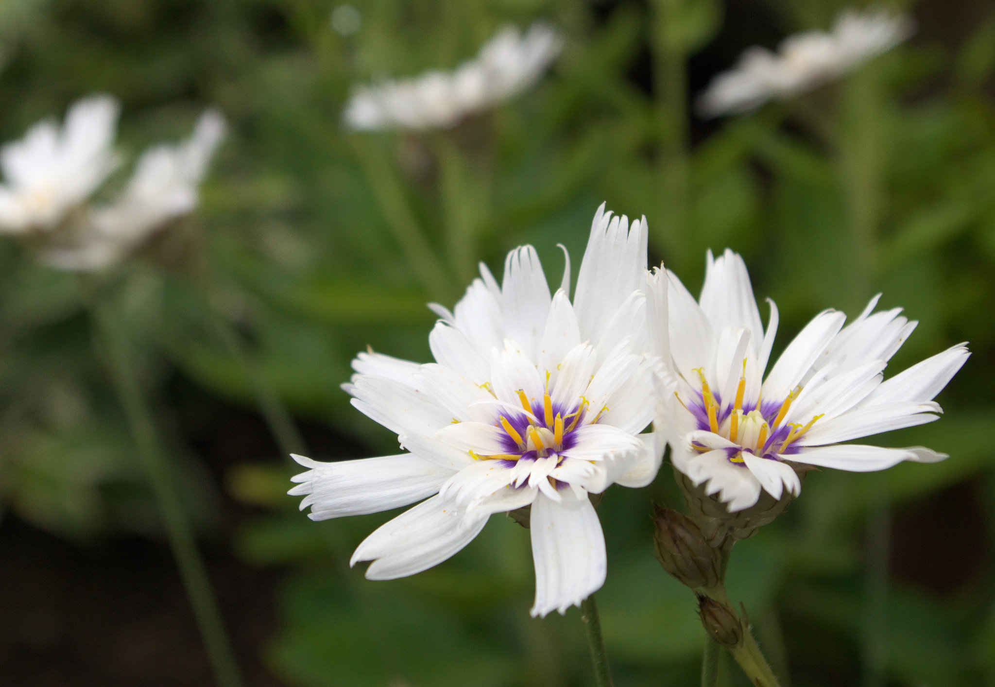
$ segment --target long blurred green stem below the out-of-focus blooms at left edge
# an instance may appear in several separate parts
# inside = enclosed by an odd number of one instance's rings
[[[107,356],[114,388],[123,406],[138,456],[148,474],[152,492],[158,502],[169,544],[182,574],[190,604],[193,606],[215,680],[221,687],[241,687],[243,683],[238,663],[222,623],[204,562],[197,551],[173,474],[162,453],[151,413],[142,397],[131,366],[127,335],[111,314],[107,304],[100,303],[96,306],[94,318]]]

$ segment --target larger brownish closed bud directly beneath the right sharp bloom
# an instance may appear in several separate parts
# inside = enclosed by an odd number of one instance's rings
[[[716,586],[721,556],[701,534],[697,523],[669,508],[655,507],[654,544],[664,570],[694,588]]]

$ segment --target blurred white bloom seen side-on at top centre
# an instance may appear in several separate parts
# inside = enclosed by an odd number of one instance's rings
[[[449,128],[532,86],[562,48],[562,36],[548,24],[536,22],[524,35],[507,26],[454,72],[356,88],[342,118],[363,130]]]

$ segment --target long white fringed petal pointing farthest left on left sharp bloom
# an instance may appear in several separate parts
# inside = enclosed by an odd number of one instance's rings
[[[452,470],[410,453],[333,463],[297,455],[293,458],[309,470],[291,478],[300,484],[288,494],[306,495],[300,502],[300,510],[310,506],[307,517],[311,520],[407,506],[438,492],[453,475]]]

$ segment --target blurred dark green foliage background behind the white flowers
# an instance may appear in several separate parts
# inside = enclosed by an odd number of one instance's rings
[[[357,350],[428,360],[426,301],[452,306],[478,260],[499,273],[520,243],[558,275],[562,242],[576,269],[602,200],[646,214],[651,262],[693,291],[706,248],[741,252],[758,297],[781,310],[781,347],[819,310],[854,316],[883,291],[883,307],[920,321],[893,370],[971,343],[938,398],[946,416],[881,438],[950,459],[810,475],[784,516],[737,546],[730,592],[791,685],[876,684],[868,656],[882,647],[889,685],[995,685],[991,3],[895,6],[918,25],[907,44],[794,101],[705,121],[694,95],[742,49],[826,28],[847,5],[350,2],[361,23],[342,36],[337,0],[4,0],[0,139],[95,92],[121,100],[130,155],[185,135],[207,105],[228,117],[193,220],[216,273],[209,297],[318,459],[396,452],[339,389]],[[502,24],[538,18],[566,47],[493,113],[428,133],[340,124],[352,84],[452,68]],[[190,272],[136,260],[115,307],[248,683],[593,684],[577,609],[529,618],[528,535],[504,516],[429,572],[369,582],[347,568],[392,514],[298,513],[285,496],[298,470]],[[0,274],[0,684],[210,684],[78,282],[7,241]],[[653,559],[654,500],[680,506],[667,466],[599,507],[598,597],[620,687],[697,684],[696,604]],[[882,522],[891,579],[876,615],[867,533]]]

